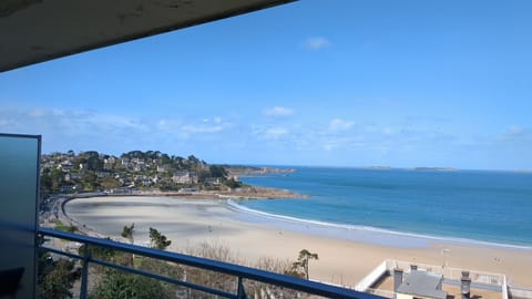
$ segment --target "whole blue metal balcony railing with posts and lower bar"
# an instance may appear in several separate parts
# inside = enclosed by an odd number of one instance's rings
[[[146,276],[150,278],[154,278],[157,280],[162,280],[165,282],[183,286],[183,287],[200,290],[200,291],[204,291],[204,292],[216,295],[224,298],[235,298],[235,299],[247,298],[244,283],[243,283],[244,279],[265,282],[265,283],[269,283],[278,287],[303,291],[309,295],[318,295],[318,296],[329,297],[329,298],[359,298],[359,299],[381,299],[382,298],[382,297],[366,293],[366,292],[359,292],[359,291],[355,291],[346,288],[304,280],[304,279],[299,279],[290,276],[264,271],[264,270],[238,266],[234,264],[211,260],[211,259],[200,258],[194,256],[187,256],[187,255],[182,255],[177,252],[170,252],[170,251],[164,251],[164,250],[158,250],[153,248],[146,248],[146,247],[130,245],[124,243],[117,243],[109,239],[94,238],[94,237],[55,230],[51,228],[41,227],[39,228],[38,234],[41,237],[45,237],[45,236],[54,237],[54,238],[76,241],[84,245],[85,250],[83,256],[58,250],[43,245],[40,246],[41,250],[50,251],[50,252],[62,255],[62,256],[68,256],[70,258],[80,259],[83,261],[83,268],[82,268],[82,275],[81,275],[81,292],[80,292],[80,297],[82,299],[86,298],[86,295],[88,295],[88,287],[86,287],[88,272],[89,272],[89,264],[91,262],[95,265],[101,265],[104,267],[110,267],[110,268],[132,272],[135,275]],[[237,278],[237,290],[236,290],[236,293],[226,292],[224,290],[214,289],[211,287],[178,280],[172,277],[166,277],[166,276],[149,272],[141,269],[117,265],[106,260],[96,259],[91,257],[89,245],[229,275]]]

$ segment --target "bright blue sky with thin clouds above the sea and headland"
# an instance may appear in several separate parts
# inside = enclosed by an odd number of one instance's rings
[[[532,169],[532,2],[301,0],[0,74],[43,152]]]

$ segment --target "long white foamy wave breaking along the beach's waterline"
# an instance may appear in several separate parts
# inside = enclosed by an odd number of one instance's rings
[[[383,229],[372,226],[361,226],[361,225],[347,225],[347,224],[335,224],[335,223],[327,223],[320,220],[310,220],[304,218],[297,218],[291,216],[278,215],[266,213],[262,210],[252,209],[245,207],[243,205],[237,204],[233,199],[227,199],[228,208],[246,213],[249,215],[268,218],[268,219],[276,219],[280,221],[287,221],[291,224],[299,224],[299,225],[310,225],[315,227],[323,227],[323,228],[332,228],[338,230],[349,230],[349,231],[369,231],[380,234],[382,236],[398,236],[398,237],[406,237],[406,238],[417,238],[423,240],[432,240],[432,241],[442,241],[442,243],[458,243],[458,244],[466,244],[466,245],[480,245],[485,247],[500,247],[500,248],[510,248],[510,249],[520,249],[520,250],[532,250],[532,246],[524,246],[524,245],[512,245],[512,244],[501,244],[501,243],[492,243],[492,241],[483,241],[477,239],[468,239],[468,238],[459,238],[459,237],[442,237],[442,236],[431,236],[431,235],[423,235],[423,234],[413,234],[413,233],[405,233],[405,231],[397,231],[390,229]]]

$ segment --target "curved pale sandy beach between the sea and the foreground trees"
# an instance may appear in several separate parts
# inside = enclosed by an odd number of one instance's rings
[[[310,262],[310,278],[338,285],[355,286],[389,258],[504,274],[518,286],[532,287],[532,250],[523,248],[319,228],[238,210],[227,200],[94,197],[71,200],[65,212],[80,227],[113,238],[134,223],[139,245],[147,245],[150,227],[172,240],[168,250],[222,244],[244,264],[260,257],[294,261],[305,248],[319,255]]]

